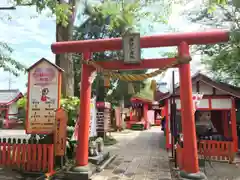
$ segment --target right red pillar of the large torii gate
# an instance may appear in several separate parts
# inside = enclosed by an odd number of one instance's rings
[[[191,59],[189,45],[181,42],[178,46],[178,58]],[[179,66],[181,119],[183,131],[183,166],[181,177],[186,179],[206,179],[204,173],[199,172],[196,126],[192,101],[192,77],[190,62]],[[187,158],[191,154],[192,158]],[[189,173],[191,172],[191,173]]]

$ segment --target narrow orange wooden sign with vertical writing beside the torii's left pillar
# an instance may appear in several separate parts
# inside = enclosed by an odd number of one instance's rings
[[[64,156],[66,151],[67,137],[67,112],[59,108],[56,111],[56,126],[54,130],[55,156]]]

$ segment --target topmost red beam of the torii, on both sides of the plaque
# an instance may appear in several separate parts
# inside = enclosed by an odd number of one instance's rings
[[[178,46],[185,41],[189,45],[193,44],[215,44],[227,42],[229,40],[228,31],[214,30],[206,32],[185,32],[160,34],[154,36],[141,37],[141,48],[154,48],[166,46]],[[73,53],[73,52],[101,52],[122,49],[121,38],[65,41],[57,42],[51,45],[52,52],[55,54]]]

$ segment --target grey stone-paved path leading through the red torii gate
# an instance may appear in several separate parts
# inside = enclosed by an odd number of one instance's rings
[[[158,127],[126,134],[118,148],[110,150],[117,158],[92,180],[170,180],[164,139]]]

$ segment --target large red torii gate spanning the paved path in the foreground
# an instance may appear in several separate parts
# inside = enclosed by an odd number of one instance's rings
[[[141,37],[141,48],[155,48],[166,46],[178,47],[178,59],[190,59],[189,45],[215,44],[218,42],[227,42],[229,33],[222,30],[214,30],[207,32],[190,32],[161,34],[154,36]],[[84,40],[84,41],[68,41],[57,42],[52,44],[52,51],[55,54],[61,53],[83,53],[84,60],[91,59],[91,53],[102,51],[113,51],[122,49],[121,38]],[[161,59],[144,59],[140,64],[124,64],[123,61],[105,61],[99,62],[105,69],[109,70],[135,70],[135,69],[154,69],[163,68],[177,61],[177,58],[161,58]],[[196,129],[193,114],[192,102],[192,81],[190,64],[184,63],[177,66],[180,74],[180,97],[181,97],[181,116],[182,129],[184,135],[184,171],[187,174],[197,174],[199,172],[198,153],[196,143]],[[88,166],[88,137],[89,137],[89,121],[90,121],[90,98],[91,84],[89,77],[94,68],[87,64],[82,64],[81,93],[80,93],[80,112],[78,146],[76,168],[79,171]],[[86,169],[85,173],[88,170]]]

